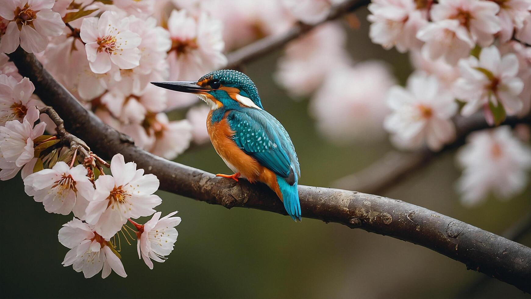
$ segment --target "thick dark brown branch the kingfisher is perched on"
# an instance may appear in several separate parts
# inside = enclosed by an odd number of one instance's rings
[[[21,48],[9,55],[35,93],[62,116],[65,127],[102,157],[122,153],[148,173],[160,189],[226,208],[244,207],[286,214],[264,185],[216,177],[168,161],[135,147],[130,139],[102,123],[54,80],[35,55]],[[412,242],[446,255],[486,275],[531,292],[531,249],[483,229],[404,201],[323,187],[299,186],[302,215]]]

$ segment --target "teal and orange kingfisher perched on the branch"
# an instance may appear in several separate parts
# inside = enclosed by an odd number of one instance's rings
[[[151,84],[194,93],[210,106],[207,131],[212,146],[234,174],[216,176],[250,183],[262,182],[278,195],[288,215],[301,221],[297,181],[301,176],[297,154],[284,126],[262,106],[249,76],[219,70],[198,81],[163,81]]]

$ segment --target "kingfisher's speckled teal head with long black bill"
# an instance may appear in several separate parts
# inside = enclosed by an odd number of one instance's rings
[[[246,106],[263,109],[253,81],[242,72],[219,70],[202,76],[198,81],[151,82],[170,90],[195,93],[212,109],[225,106]]]

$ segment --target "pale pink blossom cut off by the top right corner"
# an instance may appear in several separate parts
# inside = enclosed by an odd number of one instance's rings
[[[513,31],[524,27],[524,20],[531,16],[531,1],[529,0],[504,0],[501,2],[500,18],[501,31],[500,41],[506,42],[512,37]]]

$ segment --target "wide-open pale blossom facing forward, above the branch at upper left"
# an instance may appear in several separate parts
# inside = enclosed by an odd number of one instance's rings
[[[132,69],[140,63],[141,38],[129,30],[129,19],[120,18],[115,12],[106,11],[99,18],[85,18],[81,23],[81,39],[90,69],[97,74],[111,70]]]

